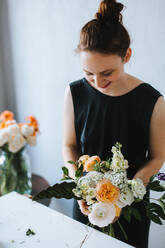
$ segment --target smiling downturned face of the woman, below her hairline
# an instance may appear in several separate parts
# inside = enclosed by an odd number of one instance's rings
[[[118,55],[81,51],[80,60],[88,83],[103,93],[110,92],[125,74],[127,61]]]

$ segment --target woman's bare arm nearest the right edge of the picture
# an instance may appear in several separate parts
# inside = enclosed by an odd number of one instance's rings
[[[150,125],[150,160],[141,168],[134,178],[141,178],[144,184],[156,174],[165,160],[165,101],[159,97],[155,104]]]

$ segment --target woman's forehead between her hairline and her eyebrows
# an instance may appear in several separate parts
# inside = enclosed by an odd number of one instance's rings
[[[89,51],[80,52],[80,60],[83,69],[93,73],[116,69],[122,63],[118,55]]]

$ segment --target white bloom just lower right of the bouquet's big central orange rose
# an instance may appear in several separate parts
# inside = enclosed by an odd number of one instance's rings
[[[127,187],[120,192],[119,200],[116,204],[121,208],[127,205],[131,205],[134,201],[134,196],[132,191]]]

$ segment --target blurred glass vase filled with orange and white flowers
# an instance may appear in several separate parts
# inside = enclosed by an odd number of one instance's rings
[[[31,173],[26,144],[36,145],[39,132],[38,122],[33,116],[26,123],[18,123],[14,114],[4,111],[0,114],[0,194],[13,190],[31,193]]]

